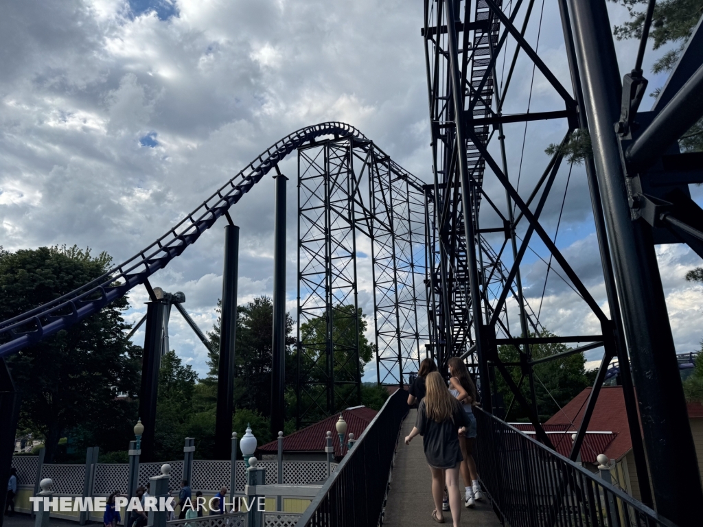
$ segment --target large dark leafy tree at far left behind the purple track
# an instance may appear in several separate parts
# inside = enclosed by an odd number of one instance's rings
[[[0,257],[0,320],[46,304],[98,278],[111,258],[91,249],[40,247]],[[22,396],[20,428],[44,440],[46,461],[70,431],[124,448],[136,419],[141,348],[126,338],[123,297],[68,330],[8,358]],[[31,330],[32,328],[27,328]],[[118,398],[118,394],[126,397]],[[119,446],[118,446],[119,445]]]

